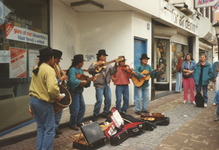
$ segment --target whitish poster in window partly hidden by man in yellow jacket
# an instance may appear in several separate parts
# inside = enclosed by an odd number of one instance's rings
[[[37,57],[39,55],[38,50],[29,50],[29,77],[32,77],[32,71],[33,68],[38,64],[39,58]]]

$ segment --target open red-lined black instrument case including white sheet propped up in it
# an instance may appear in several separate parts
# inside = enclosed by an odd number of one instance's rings
[[[111,115],[112,124],[105,130],[106,137],[110,140],[111,145],[119,145],[132,136],[140,135],[146,128],[145,121],[134,118],[131,115],[123,114],[113,108]],[[149,123],[151,124],[151,123]],[[151,124],[153,126],[153,124]],[[153,129],[154,127],[148,127]]]

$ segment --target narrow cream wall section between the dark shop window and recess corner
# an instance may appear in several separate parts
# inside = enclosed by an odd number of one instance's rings
[[[63,51],[60,66],[63,70],[71,65],[78,50],[78,14],[60,0],[51,1],[51,47]]]

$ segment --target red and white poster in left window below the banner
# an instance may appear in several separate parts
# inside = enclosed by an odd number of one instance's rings
[[[27,50],[10,47],[9,78],[27,77]]]

